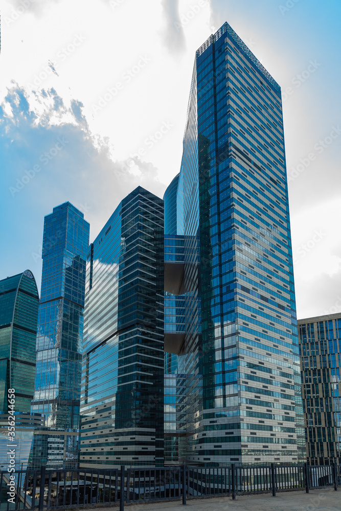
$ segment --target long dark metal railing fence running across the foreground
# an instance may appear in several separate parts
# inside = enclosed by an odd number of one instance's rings
[[[14,475],[14,478],[13,478]],[[12,476],[12,477],[11,477]],[[341,485],[341,466],[160,467],[0,473],[0,510],[66,509],[98,504],[270,493]]]

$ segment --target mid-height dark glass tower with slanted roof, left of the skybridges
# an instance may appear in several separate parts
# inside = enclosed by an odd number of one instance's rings
[[[80,467],[164,462],[164,203],[138,187],[87,257]]]

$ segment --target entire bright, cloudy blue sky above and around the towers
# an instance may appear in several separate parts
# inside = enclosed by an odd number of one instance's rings
[[[0,278],[29,268],[40,288],[55,205],[92,241],[138,184],[162,197],[195,50],[228,21],[282,88],[298,316],[341,312],[340,17],[337,0],[4,0]]]

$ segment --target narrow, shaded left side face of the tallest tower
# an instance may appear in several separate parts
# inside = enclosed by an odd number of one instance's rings
[[[199,181],[197,128],[197,72],[194,61],[187,124],[184,134],[183,158],[177,192],[177,234],[184,238],[184,303],[186,310],[185,342],[178,355],[178,371],[186,375],[186,400],[179,403],[183,420],[179,428],[186,435],[186,446],[179,449],[181,460],[191,463],[196,442],[197,414],[202,410],[201,316],[199,288]],[[184,448],[185,447],[185,448]],[[181,452],[182,451],[182,452]],[[200,461],[200,460],[199,460]]]

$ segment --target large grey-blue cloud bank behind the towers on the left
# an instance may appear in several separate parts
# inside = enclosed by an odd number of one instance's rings
[[[69,200],[79,207],[90,222],[92,241],[138,185],[163,196],[158,169],[137,157],[113,160],[110,144],[89,130],[82,109],[75,99],[66,104],[53,88],[28,96],[17,84],[0,105],[6,275],[31,268],[39,286],[41,261],[36,254],[43,217],[54,206]]]

